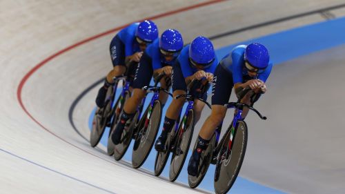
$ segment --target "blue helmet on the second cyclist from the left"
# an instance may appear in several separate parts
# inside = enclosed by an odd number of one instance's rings
[[[179,31],[168,29],[161,34],[159,39],[159,48],[166,52],[178,52],[184,47],[184,39],[182,39]]]

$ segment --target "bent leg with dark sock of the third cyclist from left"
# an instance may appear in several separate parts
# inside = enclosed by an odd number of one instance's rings
[[[172,96],[174,98],[172,99],[172,102],[169,105],[168,110],[166,110],[166,117],[164,117],[163,129],[161,131],[161,135],[159,135],[155,143],[155,149],[157,151],[164,150],[166,137],[172,129],[172,127],[174,126],[177,118],[179,117],[179,113],[181,112],[181,108],[182,106],[184,106],[185,101],[185,98],[183,97],[175,99],[177,95],[185,95],[187,90],[186,81],[184,79],[179,65],[175,65],[172,67],[172,74]]]

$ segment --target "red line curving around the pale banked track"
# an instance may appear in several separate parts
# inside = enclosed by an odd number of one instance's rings
[[[170,12],[165,12],[165,13],[162,13],[162,14],[157,14],[155,16],[152,16],[152,17],[147,17],[145,19],[159,19],[159,18],[162,18],[162,17],[167,17],[169,15],[172,15],[172,14],[177,14],[179,12],[184,12],[184,11],[187,11],[187,10],[193,10],[195,8],[200,8],[202,6],[208,6],[210,4],[213,4],[213,3],[220,3],[222,1],[226,1],[226,0],[215,0],[215,1],[206,1],[204,3],[199,3],[199,4],[195,4],[193,6],[188,6],[186,8],[180,8],[178,10],[172,10]],[[143,20],[145,20],[143,19]],[[132,23],[132,22],[131,22]],[[17,88],[17,99],[19,101],[19,104],[21,106],[21,108],[24,110],[24,112],[30,117],[30,119],[32,119],[34,122],[36,122],[39,126],[41,126],[41,128],[43,128],[44,130],[46,130],[48,133],[51,133],[52,135],[54,135],[55,137],[61,139],[63,142],[66,142],[76,148],[78,148],[79,150],[81,151],[84,151],[86,153],[89,153],[91,155],[94,155],[88,151],[85,151],[83,150],[82,148],[79,148],[78,146],[75,146],[74,144],[66,141],[65,139],[62,139],[62,137],[59,137],[58,135],[56,135],[55,133],[52,133],[50,130],[48,130],[48,128],[46,128],[45,126],[43,126],[39,121],[37,121],[37,119],[35,119],[34,117],[32,117],[32,115],[30,114],[30,112],[26,109],[26,106],[24,106],[23,104],[23,99],[21,98],[21,91],[23,90],[23,86],[26,84],[26,81],[28,81],[28,79],[31,77],[31,75],[34,74],[34,72],[36,72],[37,70],[39,70],[39,68],[41,68],[42,66],[48,64],[49,61],[51,61],[52,59],[54,59],[55,57],[58,57],[59,55],[69,51],[69,50],[72,50],[73,48],[77,48],[78,46],[81,46],[82,44],[84,43],[88,43],[89,41],[92,41],[92,40],[95,40],[95,39],[98,39],[100,37],[103,37],[103,36],[106,36],[106,35],[109,35],[113,32],[116,32],[117,30],[121,30],[122,28],[125,28],[126,26],[129,26],[130,23],[127,23],[123,26],[118,26],[117,28],[113,28],[111,30],[108,30],[106,32],[102,32],[100,33],[99,35],[95,35],[93,37],[89,37],[88,39],[84,39],[83,41],[79,41],[71,46],[68,46],[67,48],[64,48],[63,50],[59,50],[58,52],[56,52],[55,54],[51,55],[50,57],[44,59],[43,61],[41,61],[39,64],[37,64],[36,66],[34,66],[34,68],[32,68],[28,73],[26,73],[26,75],[21,79],[21,82],[19,83],[19,86]],[[96,157],[99,157],[97,155],[95,155]],[[103,159],[101,157],[99,157],[100,159]],[[106,159],[103,159],[107,162],[109,162],[108,160]]]

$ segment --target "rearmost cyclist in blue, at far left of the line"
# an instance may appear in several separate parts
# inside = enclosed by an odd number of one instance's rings
[[[113,77],[118,77],[130,68],[132,74],[135,67],[127,67],[128,62],[139,62],[142,52],[148,44],[158,37],[158,29],[153,21],[145,20],[141,23],[132,23],[121,30],[110,42],[110,57],[113,69],[108,72],[104,85],[99,89],[96,104],[103,108],[106,99],[106,92],[114,84]]]

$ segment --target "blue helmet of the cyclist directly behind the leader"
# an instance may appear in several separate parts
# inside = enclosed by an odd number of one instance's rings
[[[215,60],[215,49],[212,42],[206,37],[197,37],[189,47],[189,58],[195,64],[208,66]]]

